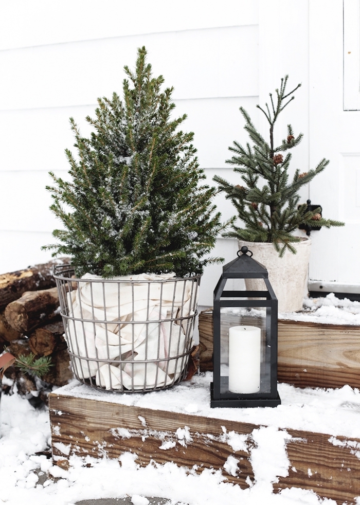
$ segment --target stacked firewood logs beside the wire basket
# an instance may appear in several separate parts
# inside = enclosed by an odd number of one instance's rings
[[[68,263],[69,258],[61,258],[0,275],[0,353],[6,347],[15,357],[49,356],[50,371],[42,382],[51,386],[63,386],[73,376],[53,278],[53,266]],[[6,375],[24,394],[39,389],[39,381],[16,367],[10,367]]]

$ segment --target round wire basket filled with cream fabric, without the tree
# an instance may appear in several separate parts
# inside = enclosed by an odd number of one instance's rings
[[[59,265],[54,277],[79,381],[97,389],[147,392],[184,380],[201,275],[77,279],[70,265]]]

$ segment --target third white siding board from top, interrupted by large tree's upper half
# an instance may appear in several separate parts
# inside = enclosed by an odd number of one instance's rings
[[[222,168],[233,140],[246,142],[240,105],[257,120],[256,97],[175,100],[174,116],[187,114],[184,131],[194,132],[202,168]],[[25,111],[0,111],[0,173],[2,171],[68,170],[65,148],[74,151],[69,117],[88,136],[87,115],[95,117],[96,104]],[[1,189],[0,189],[1,191]],[[1,220],[1,217],[0,217]],[[1,222],[1,221],[0,221]]]

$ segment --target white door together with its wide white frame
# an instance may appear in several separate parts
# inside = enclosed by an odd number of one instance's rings
[[[310,198],[323,217],[346,223],[311,233],[312,291],[360,293],[359,5],[360,0],[259,4],[259,101],[268,101],[285,74],[289,88],[301,82],[279,124],[284,130],[291,123],[295,134],[304,134],[293,151],[292,170],[306,172],[322,158],[330,160],[303,188],[301,201]]]

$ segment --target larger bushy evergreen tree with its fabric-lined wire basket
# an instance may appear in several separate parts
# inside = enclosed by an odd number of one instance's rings
[[[61,310],[74,373],[100,389],[149,391],[181,381],[192,348],[197,287],[224,228],[202,184],[193,133],[173,118],[173,88],[161,91],[146,49],[125,66],[123,101],[98,99],[69,180],[50,173]],[[74,269],[74,271],[73,271]]]

